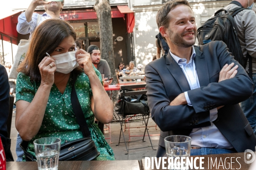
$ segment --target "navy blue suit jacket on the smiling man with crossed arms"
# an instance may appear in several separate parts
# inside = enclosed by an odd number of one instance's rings
[[[238,152],[255,150],[256,136],[238,103],[253,93],[253,83],[244,68],[234,60],[222,41],[194,46],[194,58],[200,88],[190,89],[182,69],[170,53],[145,67],[148,105],[153,120],[161,129],[159,145],[165,147],[168,135],[189,135],[193,128],[210,125],[209,110],[218,109],[213,122]],[[234,62],[238,73],[218,83],[225,64]],[[169,106],[182,92],[188,92],[193,107]]]

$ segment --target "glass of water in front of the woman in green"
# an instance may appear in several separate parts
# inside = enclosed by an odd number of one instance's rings
[[[34,141],[38,170],[58,170],[60,138],[47,137]]]

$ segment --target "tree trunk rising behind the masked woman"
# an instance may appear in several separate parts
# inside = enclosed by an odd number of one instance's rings
[[[113,82],[118,83],[115,73],[115,60],[113,49],[113,28],[111,18],[111,7],[109,0],[96,0],[94,10],[97,12],[97,19],[100,28],[100,53],[101,58],[109,63]],[[118,91],[112,91],[112,101],[115,103]]]

